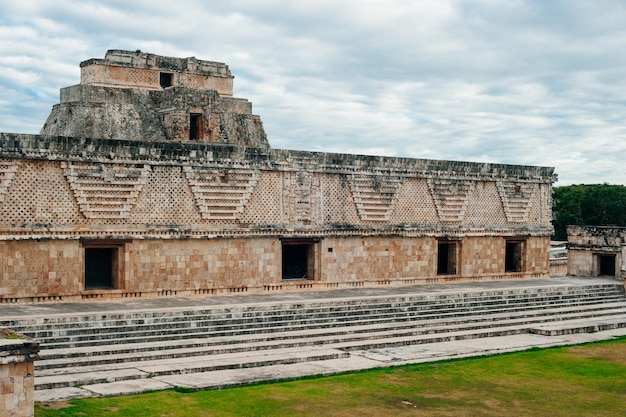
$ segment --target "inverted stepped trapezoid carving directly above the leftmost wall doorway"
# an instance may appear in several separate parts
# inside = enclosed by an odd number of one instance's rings
[[[126,219],[150,174],[150,165],[62,162],[78,207],[88,219]]]

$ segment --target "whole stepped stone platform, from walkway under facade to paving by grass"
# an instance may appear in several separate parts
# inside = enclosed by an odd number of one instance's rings
[[[626,335],[623,282],[494,281],[320,292],[0,305],[41,342],[35,399],[55,401],[579,344]]]

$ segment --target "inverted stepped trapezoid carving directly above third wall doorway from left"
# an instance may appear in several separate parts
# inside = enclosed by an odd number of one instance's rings
[[[453,178],[429,178],[428,188],[435,201],[439,220],[460,222],[465,218],[469,193],[474,181]]]

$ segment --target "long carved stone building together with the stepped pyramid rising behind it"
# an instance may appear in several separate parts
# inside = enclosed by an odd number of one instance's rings
[[[0,134],[0,302],[549,276],[552,168],[271,149],[232,82],[109,51]]]

